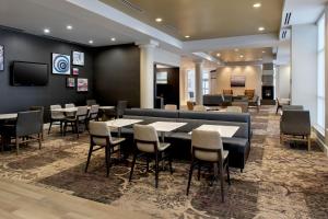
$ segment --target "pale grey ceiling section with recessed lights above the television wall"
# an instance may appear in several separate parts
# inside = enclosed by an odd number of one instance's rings
[[[0,0],[0,25],[17,28],[19,31],[45,35],[44,28],[49,28],[48,37],[56,37],[68,42],[92,46],[114,45],[132,43],[134,39],[122,35],[105,26],[103,23],[95,23],[90,14],[83,13],[80,9],[66,3],[55,2],[58,8],[47,5],[47,1],[34,0]],[[62,10],[60,7],[65,8]],[[68,12],[69,11],[69,12]],[[72,25],[72,30],[67,30]],[[110,38],[116,41],[112,42]]]

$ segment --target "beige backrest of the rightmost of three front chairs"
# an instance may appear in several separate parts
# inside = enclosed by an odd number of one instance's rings
[[[191,150],[195,158],[199,160],[219,161],[223,159],[223,145],[219,131],[192,130]]]

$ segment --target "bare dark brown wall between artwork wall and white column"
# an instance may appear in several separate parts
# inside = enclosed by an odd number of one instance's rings
[[[99,104],[125,100],[129,107],[140,107],[140,49],[136,45],[96,48],[94,67],[94,93]]]

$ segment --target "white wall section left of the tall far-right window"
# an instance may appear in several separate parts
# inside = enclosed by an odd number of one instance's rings
[[[291,101],[311,112],[314,124],[317,115],[317,27],[314,24],[292,26]]]

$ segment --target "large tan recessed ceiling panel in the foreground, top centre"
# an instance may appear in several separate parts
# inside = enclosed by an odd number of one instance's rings
[[[179,39],[279,33],[283,0],[101,0]],[[255,9],[253,4],[261,3]],[[163,21],[156,23],[155,19]],[[258,27],[266,30],[259,32]],[[185,38],[189,35],[189,38]]]

